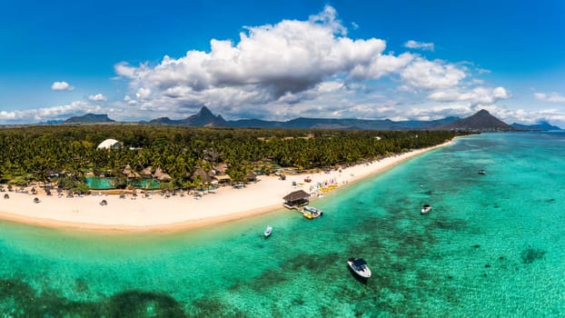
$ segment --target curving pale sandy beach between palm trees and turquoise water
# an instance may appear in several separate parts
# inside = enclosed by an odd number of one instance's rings
[[[131,195],[127,195],[125,199],[118,195],[72,198],[57,197],[56,194],[47,196],[43,189],[39,189],[36,195],[5,192],[0,196],[0,218],[48,227],[104,231],[176,231],[281,210],[284,209],[282,197],[292,191],[302,189],[311,193],[311,187],[315,184],[331,184],[332,181],[342,188],[443,145],[445,144],[387,157],[372,164],[351,166],[341,171],[332,170],[329,174],[287,175],[284,181],[277,176],[260,175],[258,182],[247,184],[243,189],[220,187],[204,194],[199,200],[190,195],[165,198],[161,194],[153,194],[151,199],[139,195],[134,200]],[[307,176],[312,178],[312,182],[304,182]],[[297,185],[292,186],[292,182]],[[326,195],[332,195],[333,192]],[[4,194],[9,194],[10,198],[2,198]],[[39,204],[34,203],[35,197],[41,200]],[[106,200],[108,204],[101,205],[102,200]],[[315,204],[315,200],[312,204]]]

